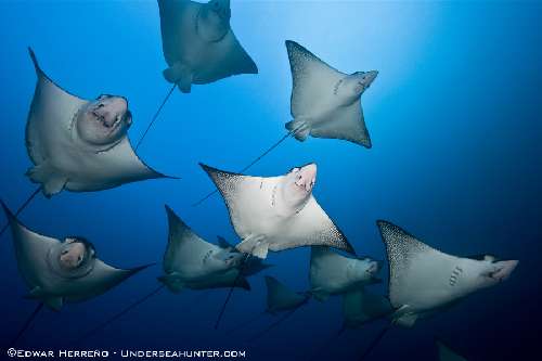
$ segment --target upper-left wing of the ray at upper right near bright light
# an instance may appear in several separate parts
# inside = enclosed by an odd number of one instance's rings
[[[346,75],[331,67],[295,41],[286,41],[292,69],[292,115],[310,114],[319,104],[330,103],[334,87]]]

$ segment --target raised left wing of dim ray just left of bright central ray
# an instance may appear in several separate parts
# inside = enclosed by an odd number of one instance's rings
[[[166,212],[169,236],[164,255],[164,271],[178,272],[186,278],[195,276],[203,271],[204,257],[219,248],[195,234],[168,206]]]

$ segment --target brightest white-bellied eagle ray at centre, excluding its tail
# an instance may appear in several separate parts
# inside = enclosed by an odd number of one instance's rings
[[[266,258],[268,250],[326,245],[353,254],[312,195],[315,165],[296,167],[279,177],[202,167],[222,194],[233,228],[243,240],[236,245],[238,250]]]

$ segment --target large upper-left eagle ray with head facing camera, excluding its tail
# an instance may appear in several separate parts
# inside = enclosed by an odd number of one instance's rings
[[[133,152],[132,123],[122,96],[85,100],[54,83],[30,50],[38,81],[26,125],[26,147],[34,167],[27,176],[46,196],[66,189],[90,192],[163,178]]]

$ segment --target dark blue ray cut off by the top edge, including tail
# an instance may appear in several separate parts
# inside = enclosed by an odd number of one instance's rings
[[[168,67],[163,72],[171,89],[162,102],[139,147],[175,88],[190,93],[192,85],[206,85],[233,75],[258,74],[230,25],[230,0],[199,3],[158,0],[162,49]]]

